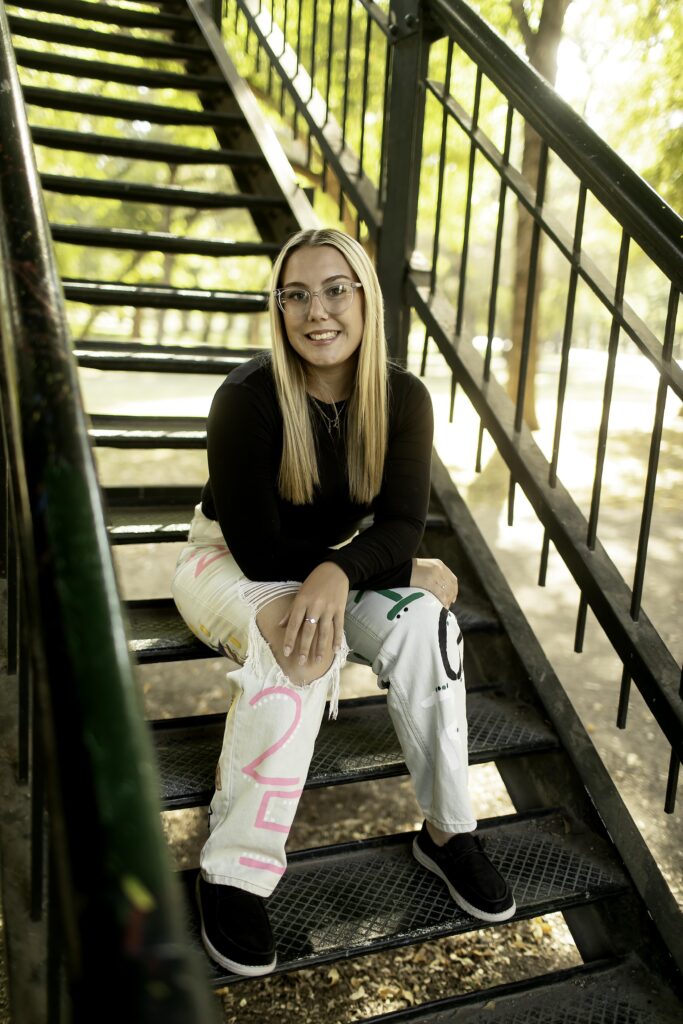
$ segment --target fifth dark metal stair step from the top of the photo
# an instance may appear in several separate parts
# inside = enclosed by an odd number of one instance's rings
[[[254,151],[204,150],[196,145],[176,145],[143,138],[119,138],[116,135],[95,135],[90,132],[62,131],[60,128],[32,127],[35,145],[73,153],[95,153],[108,157],[130,157],[133,160],[154,160],[164,164],[264,164],[265,157]]]

